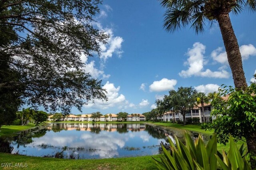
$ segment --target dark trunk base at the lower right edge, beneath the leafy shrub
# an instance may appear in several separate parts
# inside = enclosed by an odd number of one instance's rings
[[[249,137],[246,138],[246,144],[248,152],[252,154],[252,156],[256,156],[256,133],[252,133]],[[250,157],[251,167],[256,168],[256,160]]]

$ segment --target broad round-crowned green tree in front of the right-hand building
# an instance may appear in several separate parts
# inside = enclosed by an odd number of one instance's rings
[[[192,87],[179,87],[177,91],[170,90],[169,95],[165,95],[163,100],[157,100],[158,109],[162,112],[179,112],[183,115],[183,122],[186,125],[186,111],[195,105],[197,91]]]

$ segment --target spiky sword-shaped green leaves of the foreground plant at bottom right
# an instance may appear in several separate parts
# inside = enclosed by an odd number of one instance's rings
[[[251,170],[247,160],[242,158],[243,146],[240,150],[237,149],[232,137],[230,136],[230,150],[228,154],[223,151],[223,156],[217,151],[217,138],[216,135],[212,136],[212,139],[205,146],[201,135],[198,136],[193,143],[190,135],[185,131],[184,145],[176,136],[175,143],[168,137],[170,143],[170,152],[162,145],[164,155],[161,157],[161,161],[155,160],[158,169],[164,170],[216,170],[217,160],[220,162],[220,166],[226,170],[244,169]],[[228,166],[224,166],[224,162],[228,163]]]

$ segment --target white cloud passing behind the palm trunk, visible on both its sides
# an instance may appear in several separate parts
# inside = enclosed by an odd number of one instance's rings
[[[239,49],[242,56],[242,60],[247,60],[249,59],[250,56],[256,55],[256,48],[252,44],[241,45]],[[211,56],[212,59],[214,61],[217,61],[218,63],[228,64],[227,53],[225,49],[222,47],[218,47],[216,50],[212,51]]]

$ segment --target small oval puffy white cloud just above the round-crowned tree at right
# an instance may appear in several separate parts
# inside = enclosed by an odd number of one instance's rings
[[[166,90],[174,90],[174,86],[177,84],[177,80],[163,78],[160,81],[154,81],[150,86],[150,92],[161,92]]]

